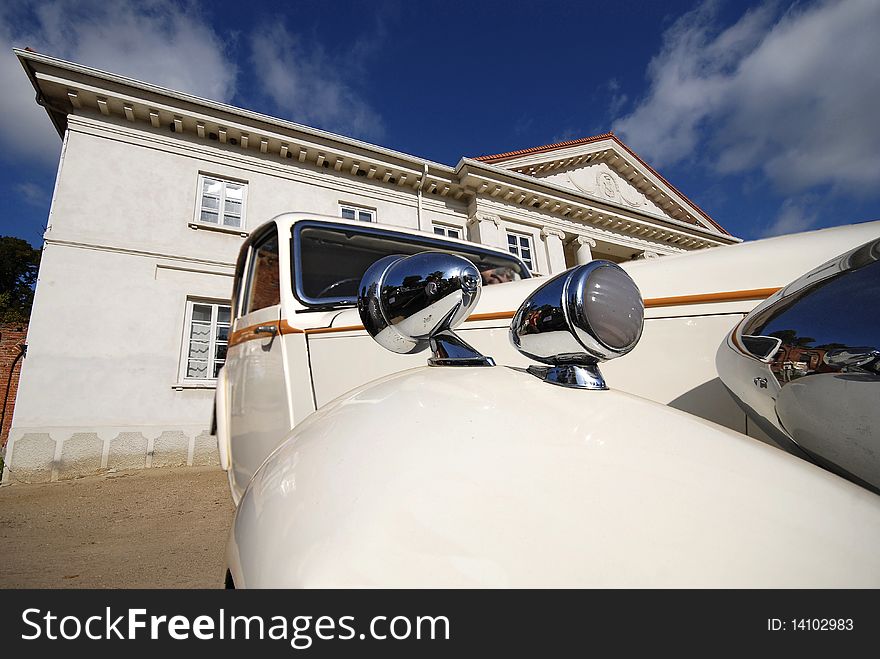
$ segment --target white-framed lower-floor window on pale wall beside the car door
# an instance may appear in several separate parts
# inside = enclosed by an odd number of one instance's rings
[[[230,307],[223,302],[188,300],[181,380],[215,380],[226,361]]]

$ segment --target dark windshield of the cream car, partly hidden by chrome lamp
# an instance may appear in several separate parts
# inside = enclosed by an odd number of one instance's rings
[[[514,256],[470,248],[443,239],[318,222],[299,222],[293,230],[293,281],[297,297],[310,305],[354,304],[367,268],[391,254],[438,250],[458,254],[479,269],[484,286],[529,277]]]

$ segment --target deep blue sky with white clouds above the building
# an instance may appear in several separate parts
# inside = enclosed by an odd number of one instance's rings
[[[61,141],[14,46],[455,164],[614,130],[745,239],[880,218],[880,2],[47,0],[0,8],[0,235]]]

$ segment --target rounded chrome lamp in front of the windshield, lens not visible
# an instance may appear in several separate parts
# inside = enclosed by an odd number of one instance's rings
[[[364,273],[358,312],[370,336],[391,352],[430,348],[431,366],[494,366],[452,331],[477,306],[481,287],[479,270],[461,256],[386,256]]]

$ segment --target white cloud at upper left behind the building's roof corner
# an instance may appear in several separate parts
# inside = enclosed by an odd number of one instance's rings
[[[48,0],[0,10],[0,142],[16,156],[54,162],[60,139],[11,50],[34,50],[178,91],[228,101],[236,67],[195,4],[171,0]],[[10,121],[10,119],[12,119]]]

